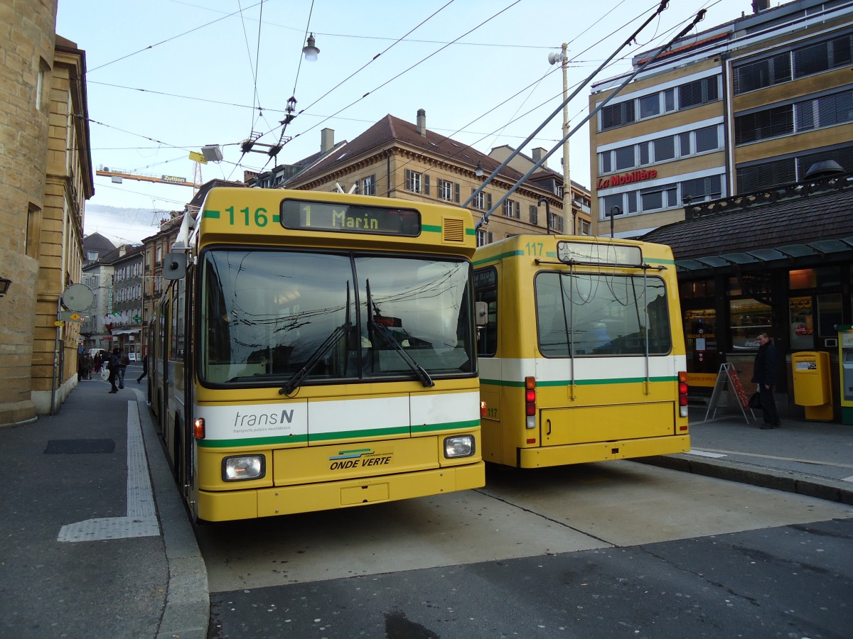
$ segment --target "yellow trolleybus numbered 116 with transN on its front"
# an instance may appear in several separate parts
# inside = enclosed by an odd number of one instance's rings
[[[151,405],[194,519],[483,486],[474,250],[456,207],[213,188],[149,325]]]

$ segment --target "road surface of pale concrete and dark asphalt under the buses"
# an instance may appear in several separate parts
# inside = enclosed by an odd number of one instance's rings
[[[633,462],[196,529],[210,637],[845,637],[853,509]]]

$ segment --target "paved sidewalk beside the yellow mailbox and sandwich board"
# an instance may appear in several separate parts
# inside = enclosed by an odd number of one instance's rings
[[[690,452],[638,461],[853,504],[853,426],[789,419],[762,430],[760,414],[705,414],[690,412]]]

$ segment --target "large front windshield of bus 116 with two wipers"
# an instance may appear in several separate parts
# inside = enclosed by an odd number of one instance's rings
[[[444,258],[208,250],[200,378],[291,394],[305,384],[470,377],[469,272]]]

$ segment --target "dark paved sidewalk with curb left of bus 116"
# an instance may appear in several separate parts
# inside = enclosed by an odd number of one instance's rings
[[[126,381],[83,380],[57,415],[0,429],[0,636],[207,635],[204,561]]]

